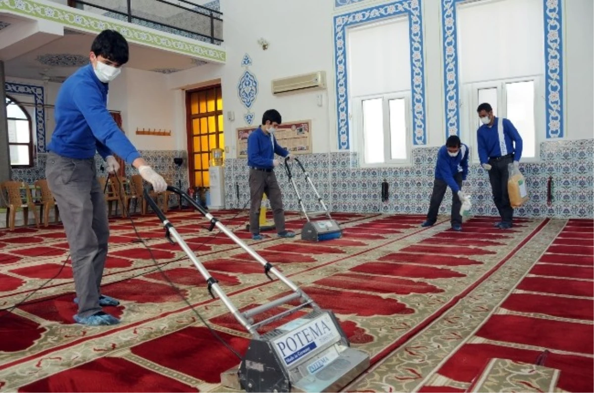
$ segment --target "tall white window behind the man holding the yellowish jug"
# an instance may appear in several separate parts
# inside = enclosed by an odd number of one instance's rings
[[[522,136],[522,161],[534,161],[545,135],[542,0],[458,4],[460,137],[476,151],[476,108],[486,102]]]

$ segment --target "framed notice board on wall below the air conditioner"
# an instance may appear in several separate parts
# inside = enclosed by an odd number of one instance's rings
[[[238,158],[248,157],[248,137],[258,126],[237,129]],[[274,133],[277,143],[292,154],[309,154],[311,151],[311,121],[283,123]]]

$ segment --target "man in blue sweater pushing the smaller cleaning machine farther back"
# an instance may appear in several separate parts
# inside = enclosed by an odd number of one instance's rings
[[[263,239],[263,235],[260,234],[260,206],[264,193],[270,201],[276,232],[280,237],[295,236],[295,233],[285,229],[283,197],[274,175],[274,168],[280,164],[280,161],[274,158],[274,153],[289,159],[291,157],[289,151],[280,147],[274,138],[274,132],[281,122],[280,113],[275,109],[269,109],[262,116],[262,125],[248,137],[249,192],[251,194],[249,232],[252,233],[254,240]]]

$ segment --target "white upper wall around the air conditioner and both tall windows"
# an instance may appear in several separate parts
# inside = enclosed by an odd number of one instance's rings
[[[362,1],[355,8],[372,4],[378,4],[378,1]],[[427,146],[434,147],[445,142],[441,1],[424,0],[422,4]],[[594,15],[594,1],[564,0],[563,4],[565,135],[568,139],[592,138],[586,113],[590,112],[589,98],[594,86],[594,74],[589,70],[594,62],[594,46],[589,42],[589,37],[594,36],[594,26],[589,20]],[[236,157],[233,151],[234,131],[247,125],[243,120],[247,110],[238,98],[237,84],[244,71],[241,59],[248,53],[253,61],[249,69],[260,83],[258,97],[251,109],[255,113],[255,123],[260,121],[264,110],[272,107],[278,109],[286,121],[311,119],[314,153],[337,151],[333,17],[337,13],[353,11],[353,8],[345,7],[336,12],[330,0],[285,0],[282,8],[278,8],[274,0],[227,0],[222,1],[221,7],[227,64],[206,65],[168,75],[169,88],[177,90],[176,100],[183,102],[180,88],[220,78],[225,118],[228,111],[235,112],[234,122],[225,120],[225,140],[231,148],[228,157]],[[266,16],[262,9],[267,9]],[[282,12],[275,14],[275,9]],[[487,42],[495,39],[488,33],[481,34],[485,35]],[[268,50],[258,46],[260,37],[270,42]],[[328,77],[328,88],[323,91],[323,107],[317,106],[319,91],[281,97],[270,93],[270,81],[274,78],[317,70],[326,71]],[[185,132],[183,105],[175,107],[174,116],[176,131]],[[351,128],[353,126],[356,126],[355,123]],[[179,143],[180,148],[185,148],[185,138]]]

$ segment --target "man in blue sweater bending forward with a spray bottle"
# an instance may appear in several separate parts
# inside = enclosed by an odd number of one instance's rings
[[[435,180],[433,192],[429,202],[429,213],[427,220],[421,224],[422,227],[430,227],[437,221],[437,214],[440,211],[441,201],[444,199],[445,190],[451,188],[451,228],[456,231],[462,230],[462,215],[460,208],[466,195],[462,192],[462,181],[468,176],[468,147],[460,142],[460,138],[451,135],[447,138],[445,146],[437,153],[437,164],[435,164]]]

